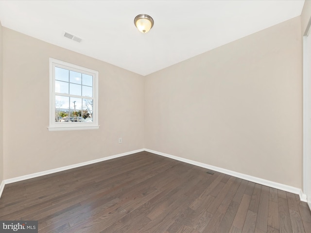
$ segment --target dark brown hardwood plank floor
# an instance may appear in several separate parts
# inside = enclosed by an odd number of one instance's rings
[[[298,195],[148,152],[7,184],[0,220],[38,220],[39,233],[311,233]]]

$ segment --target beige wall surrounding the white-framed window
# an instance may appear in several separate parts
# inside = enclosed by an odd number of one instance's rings
[[[142,76],[7,28],[2,33],[4,179],[143,148]],[[49,57],[99,71],[99,130],[48,131]]]

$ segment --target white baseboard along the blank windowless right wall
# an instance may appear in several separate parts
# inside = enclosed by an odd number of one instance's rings
[[[307,202],[307,195],[303,194],[303,192],[302,192],[302,190],[300,188],[296,188],[296,187],[289,186],[289,185],[282,184],[282,183],[276,183],[276,182],[273,182],[273,181],[264,180],[264,179],[261,179],[261,178],[258,178],[258,177],[249,176],[249,175],[246,175],[246,174],[243,174],[243,173],[239,173],[239,172],[236,172],[236,171],[231,171],[231,170],[227,170],[227,169],[224,169],[224,168],[221,168],[221,167],[217,167],[217,166],[212,166],[212,165],[196,162],[196,161],[193,161],[193,160],[190,160],[190,159],[181,158],[181,157],[178,157],[178,156],[162,153],[162,152],[155,151],[155,150],[149,150],[149,149],[144,149],[144,150],[148,151],[148,152],[151,152],[151,153],[154,153],[154,154],[158,154],[158,155],[164,156],[164,157],[175,159],[175,160],[178,160],[178,161],[181,161],[181,162],[192,164],[192,165],[195,165],[195,166],[200,166],[200,167],[204,167],[204,168],[207,168],[207,169],[210,169],[210,170],[214,170],[214,171],[218,171],[218,172],[221,172],[221,173],[225,173],[227,175],[234,176],[234,177],[237,177],[237,178],[241,178],[243,180],[251,181],[251,182],[254,182],[254,183],[259,183],[259,184],[262,184],[262,185],[265,185],[265,186],[268,186],[268,187],[277,188],[277,189],[280,189],[280,190],[283,190],[283,191],[286,191],[286,192],[298,194],[301,201]]]

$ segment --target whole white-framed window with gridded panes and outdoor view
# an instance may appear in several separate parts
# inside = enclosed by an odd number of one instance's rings
[[[98,72],[50,58],[50,130],[99,128]]]

